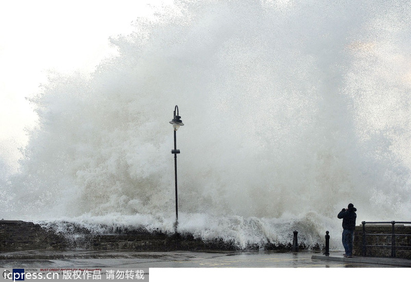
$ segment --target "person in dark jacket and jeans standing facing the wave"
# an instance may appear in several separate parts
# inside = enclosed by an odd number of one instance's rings
[[[338,218],[343,219],[343,246],[344,257],[352,257],[352,238],[356,229],[357,208],[353,204],[348,204],[348,208],[343,208],[338,214]]]

